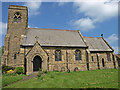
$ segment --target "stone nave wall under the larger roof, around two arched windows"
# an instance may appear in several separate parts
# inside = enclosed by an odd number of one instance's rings
[[[86,49],[85,48],[57,48],[57,47],[42,47],[49,57],[48,70],[53,71],[74,71],[78,68],[79,71],[87,70],[86,66]],[[55,50],[61,50],[62,61],[55,61]],[[79,49],[81,51],[82,60],[75,60],[75,50]],[[31,47],[26,48],[26,54],[31,50]],[[68,54],[68,58],[66,57]],[[68,59],[68,60],[67,60]],[[67,62],[68,61],[68,62]]]

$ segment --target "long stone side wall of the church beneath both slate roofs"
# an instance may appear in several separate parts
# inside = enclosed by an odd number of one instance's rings
[[[26,47],[25,48],[25,54],[26,56],[31,52],[31,49],[33,47]],[[65,48],[65,47],[41,47],[45,53],[48,55],[49,59],[46,60],[47,64],[47,70],[49,71],[67,71],[69,69],[70,71],[74,71],[75,68],[78,68],[78,71],[85,71],[85,70],[96,70],[96,69],[107,69],[107,68],[114,68],[113,58],[112,55],[114,55],[113,52],[110,53],[111,61],[108,61],[107,59],[107,53],[106,52],[89,52],[86,48]],[[62,55],[62,61],[55,61],[55,50],[61,50]],[[79,49],[81,51],[81,57],[82,60],[75,60],[75,50]],[[24,57],[24,48],[21,48],[21,57]],[[87,69],[87,58],[86,58],[86,52],[88,51],[88,69]],[[35,52],[33,52],[35,54]],[[68,58],[67,58],[67,55]],[[31,56],[31,55],[30,55]],[[92,57],[93,56],[93,61]],[[97,57],[98,56],[98,57]],[[45,56],[47,57],[47,56]],[[103,67],[102,64],[102,58],[104,58],[104,64]],[[33,58],[29,58],[29,60],[32,61]],[[99,60],[98,60],[99,59]],[[116,58],[115,58],[116,61]],[[24,58],[22,60],[24,64]],[[98,68],[99,63],[99,68]],[[116,68],[117,68],[117,62]],[[29,65],[31,67],[32,64]],[[31,69],[32,70],[32,69]]]

